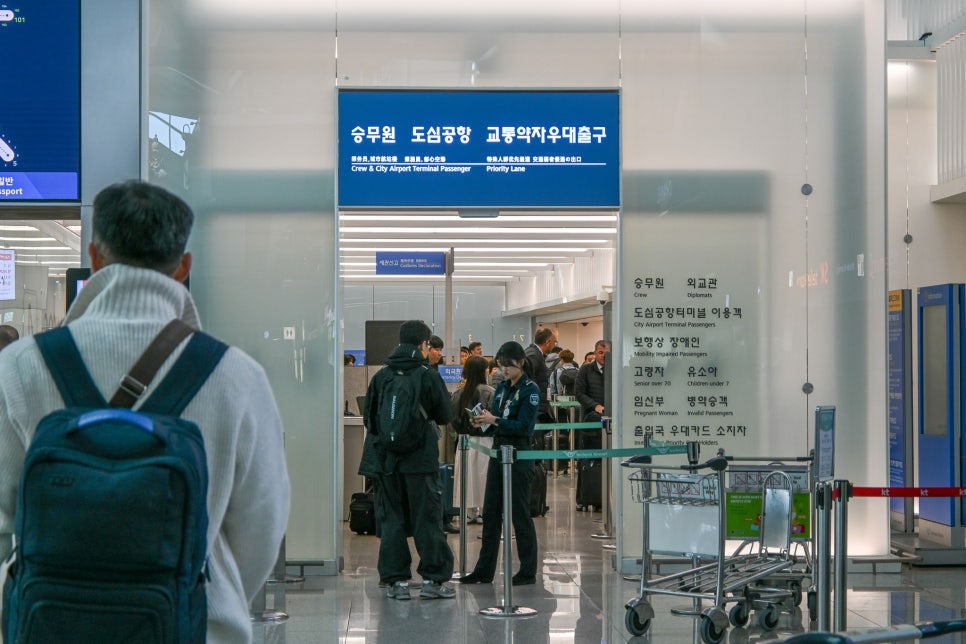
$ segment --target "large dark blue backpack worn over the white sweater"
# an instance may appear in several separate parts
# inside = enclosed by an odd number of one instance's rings
[[[192,331],[169,327],[112,405],[136,401]],[[134,412],[108,406],[67,327],[35,338],[67,408],[41,420],[24,461],[5,641],[204,642],[208,468],[201,432],[178,415],[228,347],[194,333]]]

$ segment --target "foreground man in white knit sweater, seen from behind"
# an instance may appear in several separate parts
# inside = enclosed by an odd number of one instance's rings
[[[141,181],[108,186],[94,198],[93,274],[64,323],[105,399],[169,322],[200,329],[182,284],[191,269],[185,247],[193,219],[184,201]],[[162,363],[139,402],[188,342]],[[0,352],[0,559],[12,549],[15,499],[34,428],[63,407],[33,336]],[[209,472],[207,641],[250,642],[249,602],[278,558],[290,495],[281,418],[265,371],[229,348],[181,417],[201,430]]]

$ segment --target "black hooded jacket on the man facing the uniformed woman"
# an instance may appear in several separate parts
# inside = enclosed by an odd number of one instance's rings
[[[379,446],[379,428],[375,427],[374,423],[379,410],[379,394],[393,369],[405,371],[421,369],[423,372],[420,401],[429,420],[425,423],[426,437],[422,447],[410,454],[395,454],[382,449]],[[367,476],[396,471],[406,474],[438,473],[439,425],[445,425],[452,417],[449,392],[446,391],[446,385],[439,372],[427,366],[419,347],[400,344],[392,355],[386,358],[386,366],[376,373],[366,391],[366,408],[363,410],[362,420],[369,434],[363,447],[359,473]]]

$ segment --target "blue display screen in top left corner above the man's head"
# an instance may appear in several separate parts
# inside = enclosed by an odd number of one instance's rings
[[[0,3],[0,201],[76,201],[80,2]]]

